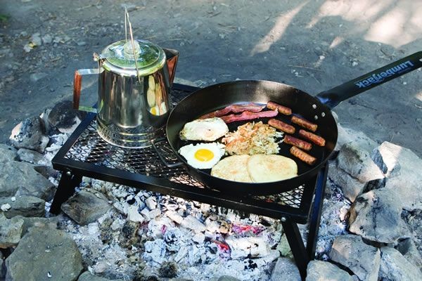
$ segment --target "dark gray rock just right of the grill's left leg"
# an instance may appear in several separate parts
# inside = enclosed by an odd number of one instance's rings
[[[81,190],[62,204],[62,211],[81,226],[93,223],[111,208],[102,193],[94,192]]]

